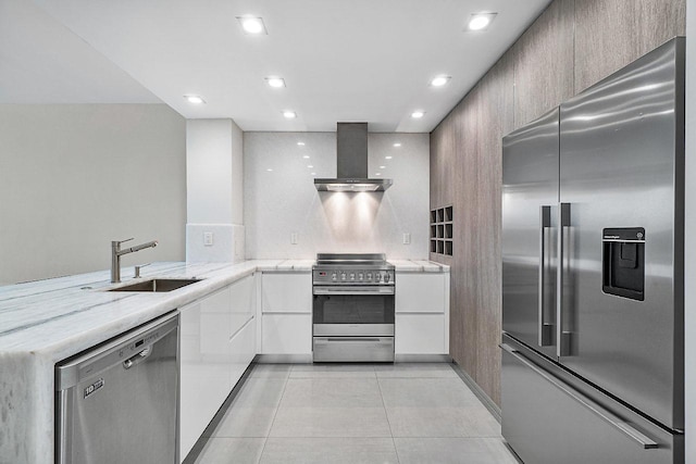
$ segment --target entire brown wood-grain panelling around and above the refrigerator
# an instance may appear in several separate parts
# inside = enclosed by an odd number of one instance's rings
[[[685,0],[555,0],[431,134],[452,204],[450,353],[500,404],[502,136],[686,29]]]

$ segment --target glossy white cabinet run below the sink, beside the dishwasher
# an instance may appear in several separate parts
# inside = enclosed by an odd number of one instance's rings
[[[186,457],[256,355],[253,276],[181,308],[179,457]]]

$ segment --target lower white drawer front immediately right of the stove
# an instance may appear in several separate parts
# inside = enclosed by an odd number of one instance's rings
[[[445,354],[444,314],[396,314],[394,329],[397,354]]]

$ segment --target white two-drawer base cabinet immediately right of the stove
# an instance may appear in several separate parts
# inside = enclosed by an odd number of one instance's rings
[[[449,353],[449,273],[396,275],[396,354]]]

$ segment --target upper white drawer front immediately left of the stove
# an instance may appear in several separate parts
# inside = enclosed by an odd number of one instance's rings
[[[263,312],[312,312],[312,275],[310,273],[264,273],[261,290]]]

